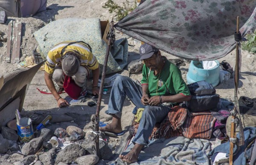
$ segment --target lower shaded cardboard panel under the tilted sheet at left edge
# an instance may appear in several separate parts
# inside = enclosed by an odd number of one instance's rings
[[[12,120],[15,119],[15,110],[19,108],[20,105],[20,98],[16,98],[14,101],[12,101],[10,104],[8,104],[6,107],[3,108],[3,110],[0,111],[0,130],[2,129],[2,126],[6,126],[6,124]]]

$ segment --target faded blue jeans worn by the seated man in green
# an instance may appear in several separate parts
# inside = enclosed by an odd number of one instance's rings
[[[142,87],[136,84],[131,78],[119,75],[113,84],[106,113],[116,115],[118,118],[122,116],[122,108],[126,96],[138,108],[145,108],[140,126],[137,130],[133,142],[140,145],[148,145],[148,138],[157,122],[163,121],[166,115],[171,110],[165,105],[159,106],[144,106],[140,99],[142,97]]]

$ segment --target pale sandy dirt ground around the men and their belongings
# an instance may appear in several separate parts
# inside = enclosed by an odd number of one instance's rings
[[[47,10],[41,13],[36,14],[33,17],[28,18],[20,18],[23,23],[23,32],[22,32],[22,46],[21,46],[21,54],[22,58],[26,56],[32,56],[32,49],[34,48],[36,43],[35,38],[33,37],[33,32],[37,31],[47,23],[49,23],[52,17],[55,17],[56,20],[67,17],[81,17],[81,18],[91,18],[91,17],[99,17],[101,20],[110,20],[114,14],[110,14],[108,9],[102,8],[102,5],[107,0],[48,0],[47,2]],[[124,0],[122,0],[124,1]],[[122,3],[119,1],[118,3]],[[133,0],[129,0],[133,2]],[[13,19],[17,20],[17,18],[9,17],[8,22]],[[7,37],[7,24],[0,24],[0,32],[2,32],[1,36],[3,38]],[[132,38],[127,35],[123,35],[119,32],[116,32],[116,38],[124,38],[127,37],[130,42],[132,42]],[[138,49],[140,46],[140,42],[138,42],[134,47],[129,46],[129,56],[128,61],[138,58]],[[162,53],[168,59],[175,59],[177,57],[169,55],[167,53]],[[13,72],[17,69],[17,64],[9,64],[5,61],[6,58],[6,41],[0,41],[0,75],[6,76],[7,74]],[[224,58],[218,59],[218,61],[226,60],[230,63],[230,65],[235,67],[235,52],[231,52]],[[256,55],[252,55],[246,51],[242,51],[242,67],[241,67],[241,76],[239,81],[239,93],[240,96],[247,96],[250,98],[256,97]],[[186,81],[186,73],[188,72],[189,64],[186,66],[180,67],[183,78]],[[127,68],[126,68],[127,69]],[[128,71],[120,72],[122,75],[128,75]],[[141,72],[137,74],[131,74],[131,78],[137,79],[140,81]],[[96,112],[95,107],[88,107],[86,103],[72,103],[70,107],[66,108],[58,108],[56,101],[51,95],[44,95],[38,92],[36,88],[41,90],[47,89],[47,86],[44,82],[44,72],[38,71],[35,77],[33,78],[29,89],[26,94],[26,98],[24,101],[24,113],[26,111],[32,112],[40,112],[40,113],[65,113],[65,112],[77,112],[80,114],[87,114],[89,116],[93,116]],[[229,98],[233,100],[234,97],[234,80],[230,78],[224,84],[219,84],[215,87],[217,90],[217,94],[219,94],[222,98]],[[48,89],[47,89],[48,90]],[[49,90],[48,90],[49,91]],[[108,98],[109,98],[110,90],[107,95],[103,95],[102,106],[100,111],[100,119],[101,121],[111,122],[111,117],[105,114],[105,110],[108,108]],[[66,97],[67,94],[61,94],[62,97]],[[89,100],[90,101],[90,100]],[[126,100],[123,108],[122,114],[122,128],[124,130],[128,130],[133,115],[131,111],[133,110],[134,105]],[[87,131],[90,121],[85,121],[84,131]],[[89,124],[86,124],[89,123]],[[118,138],[110,138],[109,142],[112,146],[115,146],[119,143],[120,137]],[[113,150],[115,147],[113,147]]]

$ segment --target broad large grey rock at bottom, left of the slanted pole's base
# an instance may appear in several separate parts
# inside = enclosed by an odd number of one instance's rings
[[[84,148],[82,148],[78,144],[73,143],[58,153],[55,162],[57,164],[58,162],[70,164],[74,162],[77,158],[84,156],[85,154],[86,150]]]

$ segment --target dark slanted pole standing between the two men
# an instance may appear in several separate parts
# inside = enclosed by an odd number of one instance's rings
[[[111,33],[111,32],[113,32],[113,27],[114,27],[113,18],[112,18],[110,26],[111,26],[110,27],[110,33]],[[107,47],[107,51],[106,51],[106,55],[105,55],[105,61],[104,61],[103,69],[102,69],[102,79],[101,79],[101,83],[100,83],[99,98],[98,98],[97,109],[96,109],[96,120],[95,120],[95,131],[96,132],[99,131],[99,110],[100,110],[101,100],[102,100],[102,91],[103,91],[103,85],[104,85],[104,81],[105,81],[106,68],[107,68],[107,64],[108,64],[108,56],[109,56],[109,52],[111,50],[112,42],[113,42],[113,38],[109,37],[108,38],[108,47]],[[99,135],[97,135],[95,142],[96,142],[96,145],[95,145],[96,155],[99,156],[99,158],[100,158]]]

